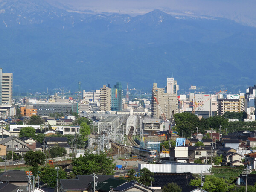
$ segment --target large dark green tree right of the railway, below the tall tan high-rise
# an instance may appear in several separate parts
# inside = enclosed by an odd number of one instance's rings
[[[176,123],[175,130],[181,136],[183,133],[183,137],[190,137],[191,130],[196,132],[196,128],[198,127],[200,131],[204,131],[204,125],[201,125],[201,121],[198,116],[184,112],[184,113],[176,113],[174,115],[174,120]]]

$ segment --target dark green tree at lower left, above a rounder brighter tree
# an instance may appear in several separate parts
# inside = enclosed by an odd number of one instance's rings
[[[43,165],[46,158],[45,154],[41,151],[29,151],[24,155],[25,164],[32,166],[33,175],[38,174],[39,166]]]

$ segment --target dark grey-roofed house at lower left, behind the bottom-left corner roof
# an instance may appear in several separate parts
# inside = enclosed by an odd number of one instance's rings
[[[0,182],[11,183],[16,186],[23,186],[28,184],[29,179],[25,171],[8,170],[0,173]]]

